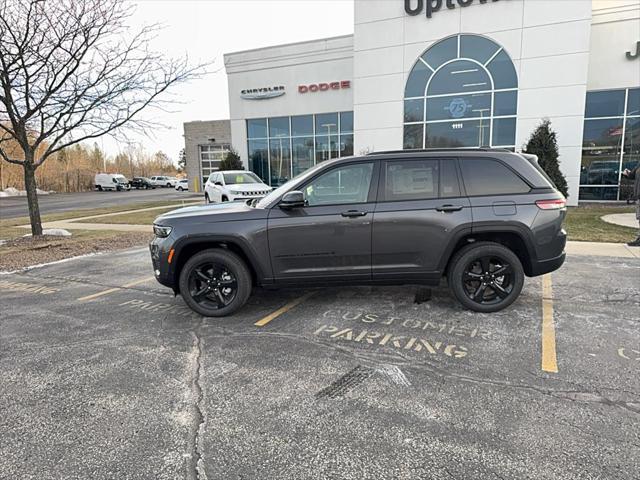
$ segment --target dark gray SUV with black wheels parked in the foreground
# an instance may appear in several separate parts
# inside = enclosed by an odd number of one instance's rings
[[[204,316],[254,286],[438,285],[495,312],[564,262],[566,200],[535,157],[496,149],[381,152],[322,162],[263,199],[154,223],[157,280]]]

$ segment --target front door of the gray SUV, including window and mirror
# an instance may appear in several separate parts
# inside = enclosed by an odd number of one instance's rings
[[[340,164],[302,185],[304,207],[273,207],[268,238],[276,283],[369,281],[376,189],[376,162]]]

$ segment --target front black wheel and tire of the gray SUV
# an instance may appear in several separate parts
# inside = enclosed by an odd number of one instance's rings
[[[209,279],[209,285],[203,278]],[[221,288],[221,283],[229,286]],[[214,248],[187,260],[180,272],[179,287],[182,298],[194,312],[205,317],[225,317],[247,303],[252,282],[249,269],[240,257]],[[200,300],[195,298],[198,292],[204,292],[200,293]]]

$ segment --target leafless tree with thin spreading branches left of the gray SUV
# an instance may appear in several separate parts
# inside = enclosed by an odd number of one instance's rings
[[[130,33],[132,9],[123,0],[0,0],[0,158],[24,169],[33,235],[42,234],[35,171],[47,158],[125,124],[157,126],[140,112],[165,108],[167,89],[204,74],[205,65],[151,50],[157,25]]]

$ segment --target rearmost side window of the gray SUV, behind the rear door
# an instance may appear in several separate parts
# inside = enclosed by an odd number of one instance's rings
[[[460,159],[462,178],[470,197],[528,193],[531,187],[497,160],[489,158]]]

